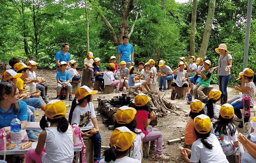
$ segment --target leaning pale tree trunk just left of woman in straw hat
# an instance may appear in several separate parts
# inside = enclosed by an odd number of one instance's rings
[[[215,0],[210,0],[209,2],[209,10],[208,10],[208,16],[205,24],[205,30],[204,30],[204,37],[202,41],[202,45],[198,54],[198,57],[201,57],[204,59],[208,47],[209,42],[209,36],[211,32],[211,25],[213,22],[214,17],[214,10],[215,10]]]

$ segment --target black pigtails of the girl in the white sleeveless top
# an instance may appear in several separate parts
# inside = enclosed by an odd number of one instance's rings
[[[58,116],[60,116],[60,115],[57,115],[57,116],[54,116],[54,117],[58,117]],[[40,120],[40,123],[39,123],[40,127],[43,130],[45,130],[45,127],[49,127],[47,121],[50,122],[50,123],[58,122],[57,129],[58,129],[59,132],[66,132],[67,129],[69,128],[69,121],[67,120],[67,118],[61,117],[61,118],[57,118],[57,119],[50,119],[50,118],[47,117],[47,120],[46,120],[46,116],[44,115],[42,117],[42,119]]]

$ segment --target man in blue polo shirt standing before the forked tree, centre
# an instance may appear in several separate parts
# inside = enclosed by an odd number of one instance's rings
[[[123,36],[123,44],[118,46],[118,66],[120,67],[121,61],[126,62],[126,67],[129,68],[130,66],[134,65],[133,62],[133,45],[128,43],[129,36]]]

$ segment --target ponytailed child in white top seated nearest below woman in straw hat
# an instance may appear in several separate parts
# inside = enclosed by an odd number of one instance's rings
[[[217,89],[212,89],[209,93],[209,100],[206,102],[204,106],[205,115],[211,118],[211,121],[219,118],[219,109],[220,105],[216,103],[219,101],[221,96],[221,91]]]

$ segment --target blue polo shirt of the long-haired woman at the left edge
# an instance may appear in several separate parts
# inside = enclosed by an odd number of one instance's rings
[[[0,128],[10,126],[14,115],[17,115],[20,121],[27,120],[26,102],[19,100],[18,104],[19,104],[19,109],[17,114],[14,113],[14,104],[11,105],[11,108],[7,112],[0,107]]]

